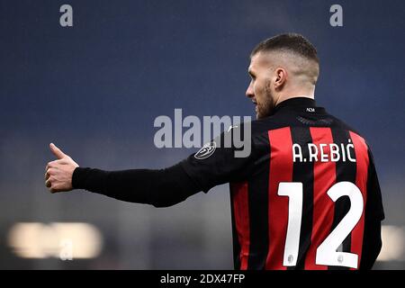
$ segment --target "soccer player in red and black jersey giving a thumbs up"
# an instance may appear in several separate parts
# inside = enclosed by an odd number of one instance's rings
[[[356,130],[316,105],[317,50],[282,34],[250,60],[257,120],[247,157],[216,145],[244,124],[158,170],[80,167],[51,143],[58,159],[46,166],[46,186],[166,207],[229,183],[235,269],[371,269],[384,218],[374,159]]]

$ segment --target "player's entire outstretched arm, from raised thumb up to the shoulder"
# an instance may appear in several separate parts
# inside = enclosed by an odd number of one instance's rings
[[[247,179],[259,154],[237,157],[238,151],[244,147],[240,148],[233,142],[229,147],[225,145],[227,139],[234,139],[236,130],[238,135],[245,131],[243,126],[239,124],[238,128],[225,131],[207,143],[212,148],[210,154],[196,157],[206,151],[204,146],[175,166],[156,170],[104,171],[79,167],[71,157],[51,143],[49,148],[58,159],[48,163],[45,184],[51,193],[85,189],[126,202],[171,206],[194,193],[207,193],[216,185]],[[252,141],[247,143],[254,145]]]

